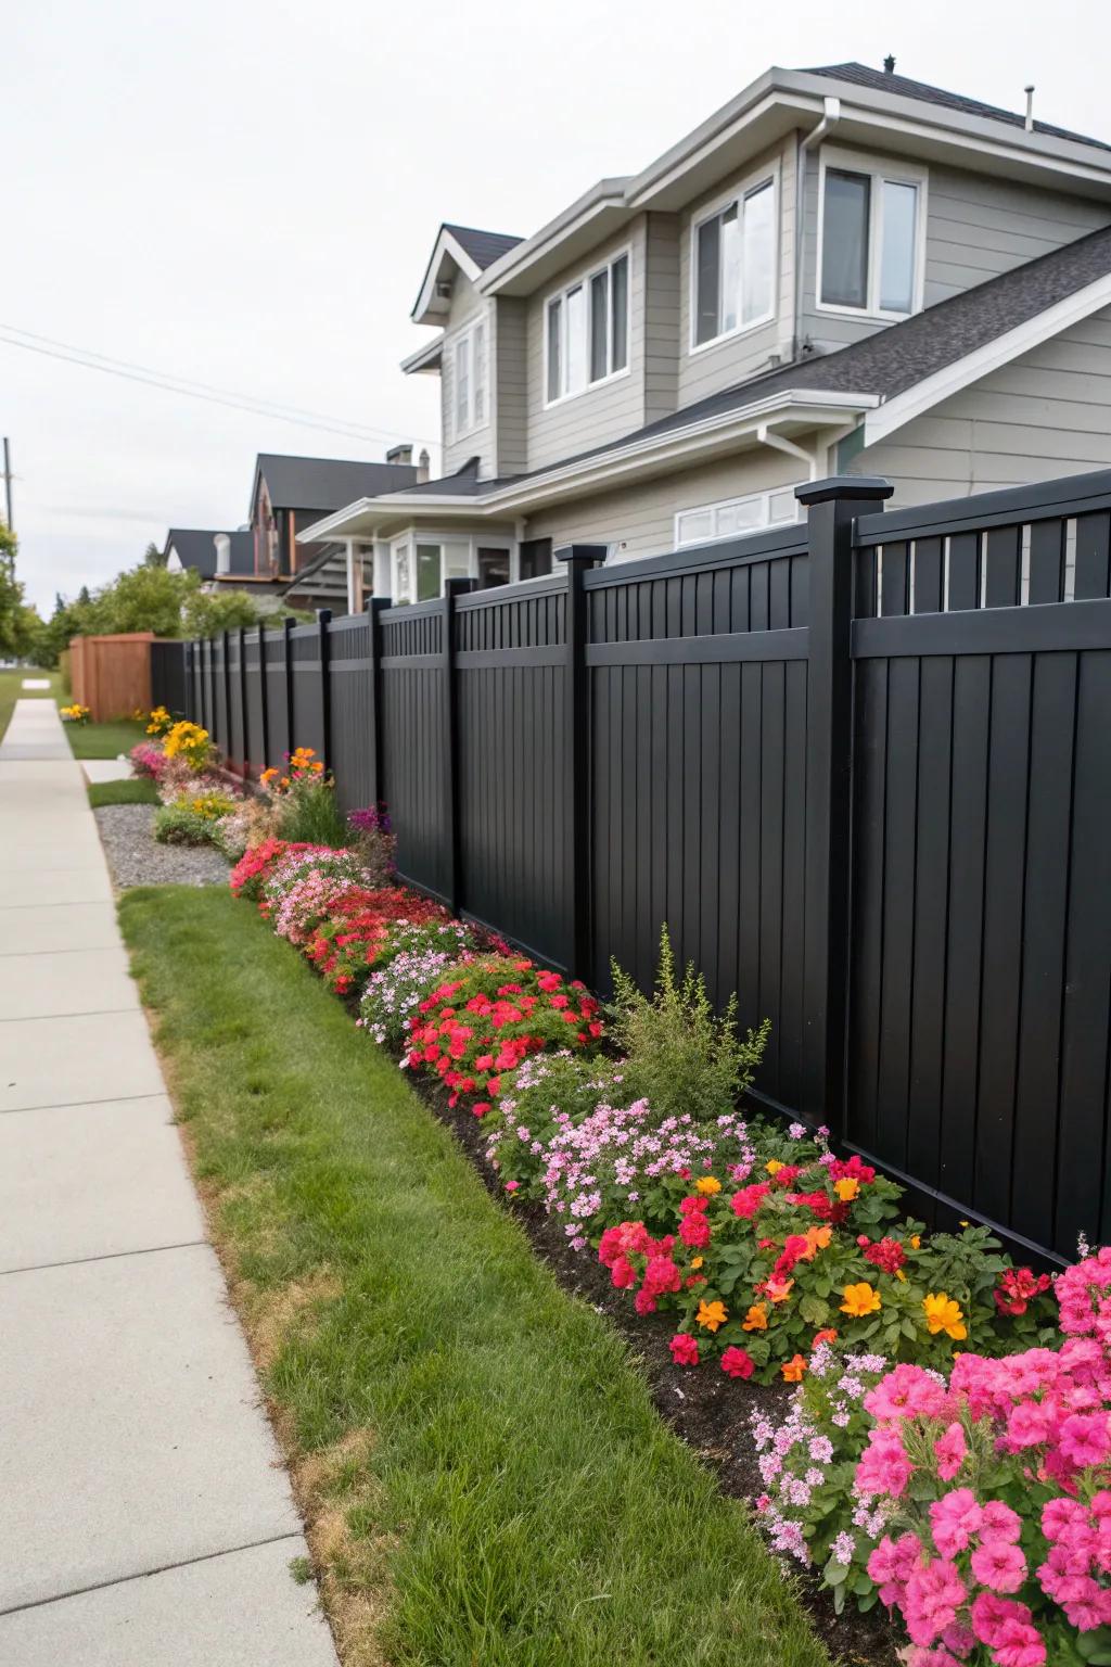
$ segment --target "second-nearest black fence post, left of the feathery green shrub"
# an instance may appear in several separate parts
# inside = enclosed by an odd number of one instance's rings
[[[586,590],[583,575],[605,562],[605,543],[568,543],[555,552],[566,562],[566,667],[563,673],[563,780],[568,803],[565,847],[566,895],[571,910],[566,970],[571,979],[593,979],[593,907],[590,895],[590,672],[586,668]]]

